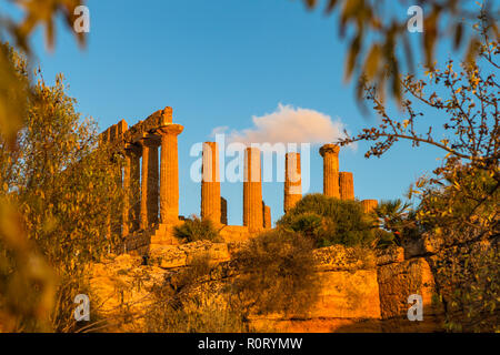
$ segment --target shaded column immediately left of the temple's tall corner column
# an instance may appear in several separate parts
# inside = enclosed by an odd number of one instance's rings
[[[141,229],[158,222],[158,141],[153,136],[140,140],[142,146],[141,169]]]

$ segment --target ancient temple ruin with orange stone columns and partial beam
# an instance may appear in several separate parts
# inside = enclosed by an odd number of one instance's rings
[[[128,126],[126,121],[108,128],[100,135],[101,144],[111,144],[124,158],[122,187],[127,192],[121,216],[121,235],[142,235],[147,242],[174,243],[171,230],[182,223],[179,216],[178,135],[183,126],[173,123],[172,108],[167,106]],[[353,174],[339,172],[336,144],[319,150],[323,158],[323,194],[354,200]],[[302,199],[300,153],[286,154],[283,210],[288,213]],[[228,202],[220,190],[219,146],[204,142],[202,148],[201,203],[202,220],[210,220],[224,240],[242,240],[271,229],[271,209],[262,199],[261,152],[244,151],[243,225],[228,224]],[[377,206],[376,200],[363,200],[364,212]],[[136,243],[136,244],[133,244]],[[137,241],[133,242],[137,245]],[[146,243],[146,242],[144,242]]]

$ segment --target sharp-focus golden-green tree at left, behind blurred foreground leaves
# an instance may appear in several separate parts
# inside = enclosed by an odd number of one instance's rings
[[[26,75],[23,68],[19,68],[20,75]],[[20,313],[12,329],[69,332],[76,328],[70,312],[72,300],[89,288],[86,265],[98,260],[119,237],[116,226],[121,214],[121,160],[110,159],[107,146],[98,149],[97,125],[74,111],[76,101],[66,94],[61,75],[53,87],[39,79],[30,92],[17,149],[0,140],[0,197],[16,206],[18,230],[52,267],[50,275],[56,278],[50,284],[57,297],[51,314],[42,322],[32,321],[32,314],[17,312],[16,307],[9,310],[7,298],[3,312]],[[9,243],[8,233],[2,233],[7,243],[0,245],[6,287],[14,285],[18,267],[22,268],[18,257],[26,257]],[[44,270],[41,264],[39,267]]]

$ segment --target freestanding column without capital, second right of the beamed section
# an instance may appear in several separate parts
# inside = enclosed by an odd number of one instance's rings
[[[259,231],[263,226],[260,150],[257,148],[244,151],[243,225],[250,231]]]

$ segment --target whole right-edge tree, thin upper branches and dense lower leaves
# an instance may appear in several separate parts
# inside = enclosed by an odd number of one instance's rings
[[[410,222],[438,245],[431,267],[447,325],[453,331],[498,331],[500,306],[500,83],[496,77],[500,45],[498,37],[489,37],[492,24],[484,13],[478,19],[478,61],[466,61],[457,71],[449,60],[442,70],[430,68],[427,79],[400,78],[404,89],[402,118],[389,113],[377,85],[364,84],[366,99],[373,103],[382,123],[341,141],[373,142],[367,158],[382,155],[400,140],[413,146],[429,144],[446,154],[432,176],[419,179],[410,189],[410,197],[420,197]],[[418,129],[424,115],[412,100],[441,114],[442,139],[437,139],[432,123],[423,131]]]

